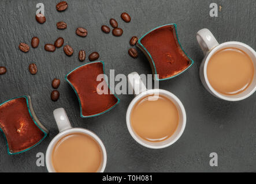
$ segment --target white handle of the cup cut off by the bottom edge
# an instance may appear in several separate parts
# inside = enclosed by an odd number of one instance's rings
[[[60,132],[72,128],[64,108],[55,109],[53,111],[53,116]]]

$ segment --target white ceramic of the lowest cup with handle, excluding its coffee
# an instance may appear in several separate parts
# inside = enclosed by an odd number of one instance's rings
[[[53,164],[51,162],[51,155],[52,155],[53,148],[54,148],[55,144],[58,143],[58,141],[60,139],[62,139],[62,137],[65,137],[66,135],[70,135],[72,133],[84,133],[88,136],[91,136],[95,141],[97,141],[97,143],[101,147],[101,151],[102,151],[102,163],[97,172],[103,173],[103,171],[105,170],[105,167],[106,167],[106,163],[107,163],[107,154],[106,154],[105,146],[102,143],[101,139],[99,139],[99,137],[97,135],[95,135],[95,133],[93,133],[87,129],[72,128],[71,124],[69,122],[68,116],[66,115],[66,112],[63,108],[55,109],[53,114],[54,114],[54,118],[55,118],[55,121],[57,123],[60,133],[58,133],[58,135],[55,136],[53,138],[53,140],[51,140],[51,143],[49,144],[47,151],[46,151],[46,167],[47,167],[47,170],[49,171],[49,173],[55,173]]]

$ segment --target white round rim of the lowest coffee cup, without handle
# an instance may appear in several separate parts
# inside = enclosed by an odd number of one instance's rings
[[[101,147],[102,150],[102,155],[103,155],[103,160],[102,160],[102,165],[101,165],[101,169],[98,171],[98,173],[103,173],[105,168],[106,168],[106,163],[107,163],[107,154],[106,154],[106,148],[105,145],[102,143],[101,139],[99,139],[99,137],[92,131],[89,131],[88,129],[84,129],[84,128],[71,128],[71,129],[66,129],[63,132],[58,133],[50,142],[50,144],[47,147],[46,150],[46,167],[47,170],[49,171],[49,173],[55,173],[53,164],[51,163],[51,153],[53,151],[54,145],[60,140],[62,139],[62,137],[72,134],[72,133],[84,133],[88,136],[91,136],[95,141],[97,141],[97,143],[99,144],[99,146]]]

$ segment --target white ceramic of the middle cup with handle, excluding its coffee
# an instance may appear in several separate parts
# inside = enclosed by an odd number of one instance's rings
[[[147,90],[146,86],[142,82],[142,79],[140,78],[137,72],[132,72],[131,74],[129,74],[128,81],[129,81],[129,85],[132,86],[133,91],[136,95],[136,97],[133,98],[133,100],[129,104],[127,113],[126,113],[127,128],[129,133],[133,137],[133,139],[135,139],[139,144],[143,145],[144,147],[153,148],[153,149],[165,148],[175,143],[182,135],[185,129],[185,123],[186,123],[185,109],[183,104],[179,100],[179,98],[177,98],[174,94],[166,90],[162,90],[162,89]],[[153,94],[154,95],[159,94],[169,98],[176,105],[176,108],[179,111],[179,124],[175,133],[173,133],[173,135],[170,136],[168,139],[164,141],[156,142],[156,143],[144,140],[139,135],[137,135],[137,133],[133,130],[131,126],[131,121],[130,121],[132,108],[136,104],[136,102],[138,102],[140,99],[144,97],[147,97],[148,95],[153,95]]]

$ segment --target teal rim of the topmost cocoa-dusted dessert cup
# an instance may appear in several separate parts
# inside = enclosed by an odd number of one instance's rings
[[[158,76],[157,76],[157,68],[155,67],[155,62],[154,62],[152,56],[150,55],[149,51],[147,51],[147,49],[146,49],[146,48],[144,47],[144,45],[141,43],[141,40],[142,40],[147,34],[149,34],[150,32],[153,32],[153,30],[158,29],[158,28],[162,28],[162,27],[168,26],[168,25],[173,25],[173,26],[175,26],[175,34],[176,34],[177,42],[178,42],[178,44],[179,44],[181,50],[185,53],[185,56],[187,56],[188,59],[190,59],[190,65],[189,65],[187,68],[185,68],[183,71],[179,72],[179,74],[170,76],[170,77],[168,77],[168,78],[159,79]],[[179,37],[178,37],[178,34],[177,34],[177,26],[176,26],[175,23],[172,23],[172,24],[165,24],[165,25],[158,26],[158,27],[156,27],[156,28],[154,28],[154,29],[151,29],[149,32],[147,32],[146,34],[144,34],[144,35],[139,39],[138,44],[139,44],[139,48],[142,47],[142,48],[144,49],[144,51],[146,51],[147,55],[150,57],[150,60],[151,60],[151,61],[149,61],[149,62],[151,62],[151,63],[153,64],[154,71],[155,71],[155,72],[154,72],[154,74],[155,74],[155,79],[156,79],[157,81],[165,81],[165,80],[168,80],[168,79],[175,78],[175,76],[178,76],[178,75],[182,74],[183,72],[185,72],[186,70],[188,70],[188,68],[190,68],[190,67],[194,64],[194,60],[192,60],[191,57],[188,56],[187,53],[184,51],[184,49],[181,47],[180,40],[179,40]]]

